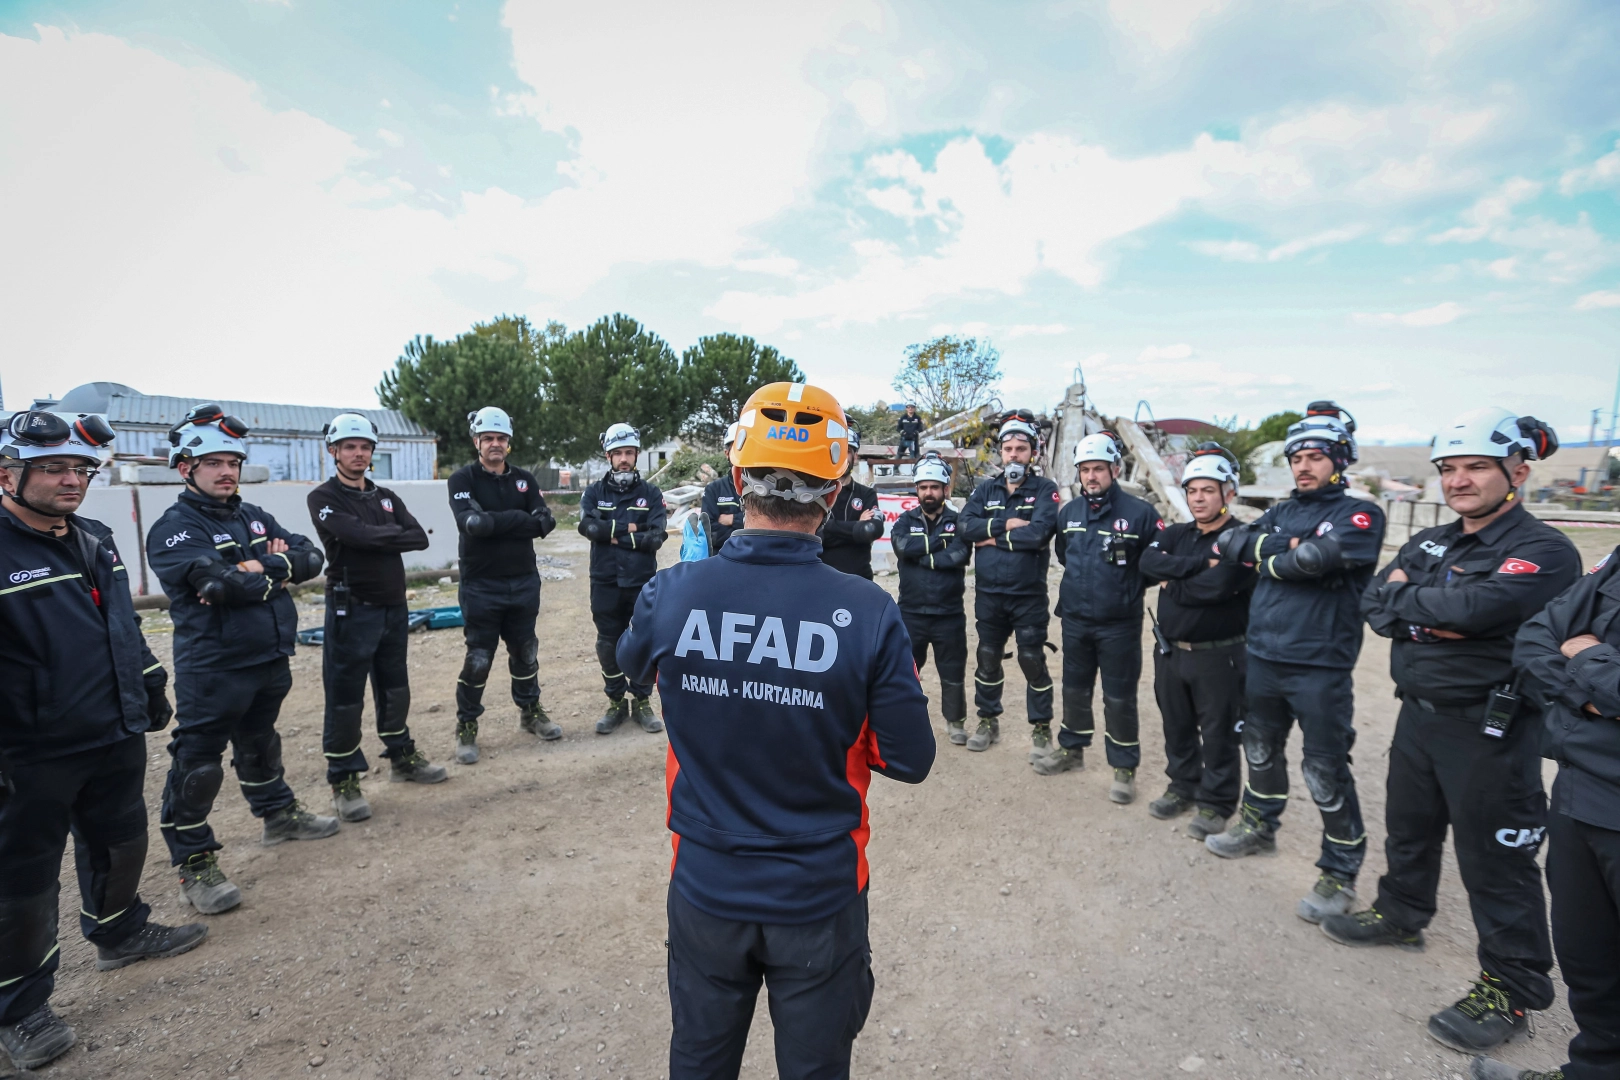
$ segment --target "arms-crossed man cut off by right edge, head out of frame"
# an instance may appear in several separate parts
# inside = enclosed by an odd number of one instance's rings
[[[1620,549],[1617,549],[1620,552]],[[1580,1028],[1550,1072],[1474,1059],[1476,1080],[1620,1077],[1620,557],[1592,572],[1518,633],[1513,662],[1544,709],[1542,753],[1558,763],[1547,818],[1552,946]],[[1520,717],[1520,724],[1531,724]],[[1534,842],[1534,832],[1498,840]]]

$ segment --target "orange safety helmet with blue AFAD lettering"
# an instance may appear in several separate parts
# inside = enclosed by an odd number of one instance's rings
[[[766,384],[742,406],[731,463],[740,470],[786,468],[836,481],[849,468],[844,406],[821,387]]]

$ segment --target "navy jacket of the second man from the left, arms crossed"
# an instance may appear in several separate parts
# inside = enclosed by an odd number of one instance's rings
[[[292,560],[266,555],[272,539],[293,551],[309,551],[306,536],[288,533],[275,518],[232,495],[217,502],[190,487],[146,534],[146,560],[168,596],[175,620],[175,674],[235,670],[293,654],[298,610],[285,585],[296,585]],[[256,559],[264,573],[237,570]],[[212,563],[199,567],[199,562]],[[198,599],[199,575],[220,575],[224,604]]]

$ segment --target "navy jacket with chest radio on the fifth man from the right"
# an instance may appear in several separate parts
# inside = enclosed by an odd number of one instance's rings
[[[1095,512],[1085,495],[1066,502],[1058,512],[1053,546],[1063,563],[1058,615],[1081,622],[1142,622],[1142,593],[1147,591],[1142,552],[1163,528],[1158,510],[1119,491],[1118,484],[1103,492]],[[1123,567],[1110,557],[1116,547],[1126,551]]]

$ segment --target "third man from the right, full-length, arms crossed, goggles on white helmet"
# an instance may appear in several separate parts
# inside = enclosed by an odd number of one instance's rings
[[[1294,474],[1293,497],[1217,539],[1220,557],[1252,565],[1259,583],[1249,604],[1243,814],[1204,845],[1221,858],[1277,852],[1288,805],[1288,732],[1298,719],[1301,771],[1322,813],[1322,873],[1298,913],[1317,923],[1353,907],[1367,855],[1349,772],[1351,672],[1361,654],[1361,593],[1383,544],[1383,510],[1345,492],[1345,470],[1358,457],[1356,424],[1332,402],[1312,402],[1288,427],[1283,455]]]

